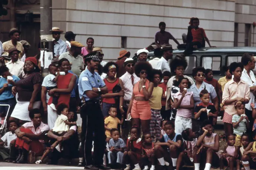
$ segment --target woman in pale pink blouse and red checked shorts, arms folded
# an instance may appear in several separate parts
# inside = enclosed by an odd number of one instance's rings
[[[250,87],[241,80],[243,69],[242,63],[234,62],[230,64],[229,72],[234,75],[234,78],[227,82],[222,95],[222,104],[225,105],[223,116],[224,131],[227,136],[233,133],[232,116],[236,114],[234,103],[242,101],[242,103],[246,104],[250,100]]]

